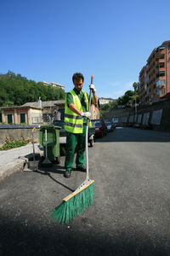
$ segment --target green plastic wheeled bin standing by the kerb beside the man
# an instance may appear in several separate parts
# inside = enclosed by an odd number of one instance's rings
[[[44,156],[46,155],[45,130],[47,129],[47,151],[48,160],[60,162],[59,156],[59,126],[42,125],[39,131],[39,143],[43,147]]]

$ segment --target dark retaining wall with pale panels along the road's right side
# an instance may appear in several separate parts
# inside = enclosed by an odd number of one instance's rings
[[[118,125],[132,124],[151,125],[154,130],[170,131],[170,100],[152,103],[149,106],[138,108],[112,108],[105,113],[104,119],[118,118]]]

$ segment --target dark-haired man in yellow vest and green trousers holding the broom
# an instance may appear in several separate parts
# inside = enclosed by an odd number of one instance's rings
[[[65,96],[65,131],[66,131],[66,152],[65,152],[65,177],[71,177],[72,164],[75,148],[77,146],[77,171],[86,172],[84,164],[84,151],[86,148],[87,120],[90,118],[88,110],[89,96],[82,90],[84,77],[82,73],[75,73],[72,76],[74,89]],[[93,91],[93,103],[97,104],[94,84],[90,85]]]

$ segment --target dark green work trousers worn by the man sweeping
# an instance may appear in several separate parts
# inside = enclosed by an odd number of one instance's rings
[[[65,169],[71,170],[75,149],[77,147],[77,167],[84,164],[84,151],[86,148],[86,129],[87,125],[83,125],[82,133],[71,133],[66,131],[66,151],[65,151]]]

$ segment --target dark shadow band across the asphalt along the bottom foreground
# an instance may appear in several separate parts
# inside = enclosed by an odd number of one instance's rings
[[[24,218],[18,221],[13,216],[8,219],[1,214],[0,217],[3,219],[0,223],[0,255],[169,255],[159,236],[156,243],[139,231],[115,235],[114,232],[87,230],[87,227],[83,230],[86,222],[81,217],[82,230],[55,223],[44,224],[43,220],[37,226],[34,219],[30,223]]]

